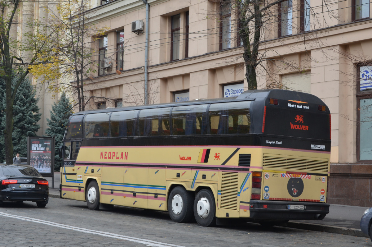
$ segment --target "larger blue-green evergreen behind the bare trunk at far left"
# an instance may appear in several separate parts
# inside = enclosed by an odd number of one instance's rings
[[[14,79],[13,87],[17,77]],[[5,82],[0,80],[0,95],[4,96]],[[36,124],[40,120],[41,113],[37,106],[38,99],[35,98],[36,91],[30,84],[29,79],[25,78],[20,84],[13,104],[13,154],[19,153],[21,157],[27,157],[27,137],[35,136],[40,126]],[[6,107],[6,98],[2,97],[2,109]],[[1,133],[6,126],[6,116],[4,110],[0,112]],[[1,153],[0,160],[5,160],[4,135],[0,136]],[[15,156],[15,155],[14,155]]]

